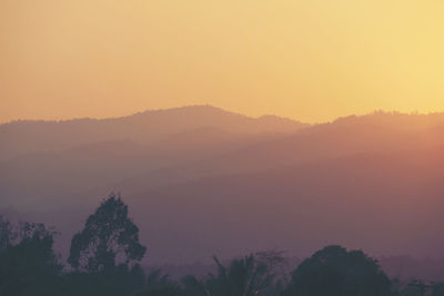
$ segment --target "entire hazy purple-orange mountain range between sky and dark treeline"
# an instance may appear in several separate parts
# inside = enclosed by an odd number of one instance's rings
[[[0,207],[70,237],[122,192],[148,261],[325,244],[440,256],[444,114],[375,112],[307,125],[212,106],[0,125]]]

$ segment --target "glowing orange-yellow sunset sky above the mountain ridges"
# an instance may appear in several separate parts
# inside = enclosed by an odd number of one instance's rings
[[[444,111],[442,0],[0,0],[0,122]]]

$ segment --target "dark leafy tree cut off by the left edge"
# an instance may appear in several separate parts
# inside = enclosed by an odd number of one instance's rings
[[[0,295],[54,293],[62,266],[52,249],[53,235],[43,224],[0,220]]]

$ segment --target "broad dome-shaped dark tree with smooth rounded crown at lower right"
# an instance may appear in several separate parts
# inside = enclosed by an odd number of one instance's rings
[[[377,262],[362,251],[327,246],[292,273],[285,296],[385,296],[391,280]]]

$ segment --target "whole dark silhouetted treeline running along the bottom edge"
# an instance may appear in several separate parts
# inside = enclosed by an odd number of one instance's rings
[[[52,249],[54,232],[43,224],[14,225],[0,216],[0,295],[7,296],[444,296],[443,283],[390,280],[361,251],[327,246],[291,274],[280,274],[280,252],[250,254],[221,263],[215,274],[180,282],[162,272],[145,276],[137,263],[145,252],[139,228],[120,197],[99,206],[72,239],[62,272]],[[121,258],[118,263],[117,258]]]

